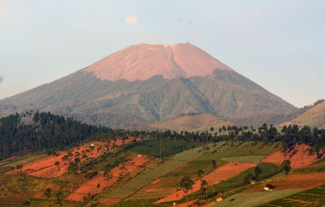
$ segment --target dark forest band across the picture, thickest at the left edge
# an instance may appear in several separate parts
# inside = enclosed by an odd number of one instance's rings
[[[65,118],[50,112],[31,111],[0,119],[0,159],[27,152],[64,150],[88,141],[107,141],[128,136],[196,143],[230,141],[231,146],[238,141],[280,141],[284,150],[304,143],[311,146],[310,153],[317,154],[325,148],[325,129],[311,129],[308,126],[302,129],[297,125],[284,126],[280,132],[273,125],[267,124],[258,129],[223,126],[220,129],[211,128],[209,132],[129,131],[89,125],[76,121],[73,117]]]

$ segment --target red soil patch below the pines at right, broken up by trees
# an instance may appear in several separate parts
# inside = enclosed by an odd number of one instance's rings
[[[280,165],[287,158],[291,162],[290,166],[292,169],[303,168],[319,160],[317,159],[316,153],[308,155],[308,149],[309,147],[307,145],[297,145],[295,149],[287,150],[286,157],[283,152],[277,151],[264,158],[262,162]]]

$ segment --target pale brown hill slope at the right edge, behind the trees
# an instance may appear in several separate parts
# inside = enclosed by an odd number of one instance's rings
[[[289,124],[297,124],[300,127],[308,125],[310,127],[325,128],[325,101],[318,103],[307,112],[297,116],[288,122],[284,122],[279,126],[288,126]]]

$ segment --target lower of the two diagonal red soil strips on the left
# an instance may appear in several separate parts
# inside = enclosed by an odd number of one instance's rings
[[[140,166],[144,165],[147,162],[147,159],[144,155],[137,155],[132,158],[132,160],[125,163],[126,169],[121,169],[122,164],[118,167],[115,167],[110,170],[113,177],[112,179],[107,180],[102,174],[98,174],[85,184],[81,185],[80,188],[76,189],[72,194],[70,194],[66,200],[69,201],[83,201],[84,196],[99,193],[104,188],[107,188],[117,182],[119,174],[122,172],[125,175],[136,171]],[[97,184],[100,184],[100,187],[97,188]],[[113,200],[112,200],[113,201]],[[109,202],[109,201],[108,201]]]

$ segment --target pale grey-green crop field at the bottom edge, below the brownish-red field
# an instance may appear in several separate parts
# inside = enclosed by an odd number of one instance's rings
[[[254,207],[275,199],[295,194],[300,191],[302,191],[302,189],[239,193],[217,202],[211,207]]]

